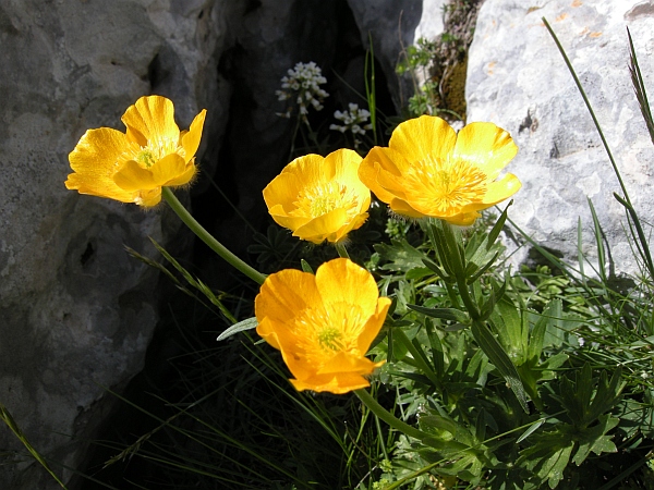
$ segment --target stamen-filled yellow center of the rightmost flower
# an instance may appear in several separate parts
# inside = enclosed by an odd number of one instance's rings
[[[441,213],[456,213],[463,206],[482,199],[488,177],[479,167],[462,160],[427,156],[410,167],[407,181],[419,205],[436,207]]]

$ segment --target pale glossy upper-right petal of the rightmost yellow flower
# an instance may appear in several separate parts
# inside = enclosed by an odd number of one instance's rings
[[[453,158],[474,163],[494,180],[517,152],[509,133],[493,123],[476,122],[459,132]]]

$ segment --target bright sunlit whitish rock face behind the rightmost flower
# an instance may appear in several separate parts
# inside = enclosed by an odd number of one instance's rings
[[[638,271],[623,226],[621,194],[601,138],[564,59],[542,22],[557,34],[584,86],[641,218],[654,211],[654,147],[628,70],[631,30],[645,86],[654,86],[654,3],[634,0],[486,0],[470,49],[468,122],[508,130],[520,150],[509,166],[523,183],[509,217],[532,237],[574,261],[597,262],[591,199],[616,275]],[[516,262],[528,256],[522,247]]]

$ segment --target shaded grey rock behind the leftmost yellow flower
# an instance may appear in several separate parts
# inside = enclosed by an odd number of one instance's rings
[[[89,127],[124,131],[124,109],[150,93],[174,98],[183,127],[203,107],[219,126],[218,79],[201,75],[217,72],[230,3],[0,3],[0,403],[55,462],[76,466],[106,388],[141,369],[157,321],[157,275],[123,246],[152,256],[147,236],[179,229],[66,191],[68,154]],[[0,448],[16,451],[0,456],[0,488],[59,488],[4,425]]]

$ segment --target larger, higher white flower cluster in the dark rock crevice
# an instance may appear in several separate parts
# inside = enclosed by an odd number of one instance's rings
[[[288,71],[288,76],[281,78],[281,90],[277,90],[278,100],[295,99],[300,117],[306,121],[308,108],[313,107],[316,111],[323,109],[323,100],[329,97],[319,86],[327,83],[323,76],[320,66],[313,61],[308,63],[298,63],[295,68]],[[310,106],[311,105],[311,106]],[[291,108],[284,113],[278,113],[282,118],[291,117]]]

